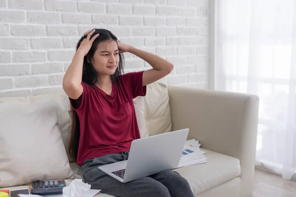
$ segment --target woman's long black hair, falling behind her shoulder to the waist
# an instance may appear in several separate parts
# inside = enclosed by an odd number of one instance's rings
[[[95,32],[91,35],[90,39],[97,33],[100,33],[100,35],[94,40],[89,52],[83,59],[82,81],[89,85],[94,85],[97,83],[98,80],[100,80],[98,79],[98,73],[96,72],[94,66],[91,63],[92,62],[91,60],[97,50],[98,44],[100,42],[107,41],[107,40],[118,41],[117,37],[113,33],[105,29],[95,29]],[[76,46],[76,51],[79,48],[82,40],[86,37],[87,35],[83,35],[79,39]],[[123,73],[123,69],[124,69],[124,56],[123,54],[119,54],[118,66],[114,74],[111,75],[112,83],[118,83],[118,76]],[[74,160],[77,159],[79,138],[80,138],[79,118],[76,111],[73,108],[71,108],[71,137],[70,137],[68,149],[69,149],[70,156]]]

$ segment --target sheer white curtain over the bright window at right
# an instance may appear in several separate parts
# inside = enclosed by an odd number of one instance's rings
[[[216,1],[215,89],[258,95],[257,165],[296,172],[296,0]]]

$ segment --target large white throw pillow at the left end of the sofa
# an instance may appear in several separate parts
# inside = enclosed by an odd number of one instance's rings
[[[53,105],[0,103],[0,188],[74,178]]]

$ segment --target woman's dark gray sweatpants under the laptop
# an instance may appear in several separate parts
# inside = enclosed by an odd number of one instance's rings
[[[115,197],[194,197],[187,180],[172,170],[121,183],[98,169],[100,165],[127,160],[128,154],[127,151],[85,160],[81,166],[83,181],[90,184],[91,189]]]

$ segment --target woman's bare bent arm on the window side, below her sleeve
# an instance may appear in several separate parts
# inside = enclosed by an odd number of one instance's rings
[[[143,86],[153,83],[172,72],[174,65],[167,60],[152,53],[137,49],[135,47],[118,42],[118,48],[121,52],[132,53],[144,61],[148,62],[153,68],[145,70],[143,73]],[[120,53],[119,51],[119,53]]]

